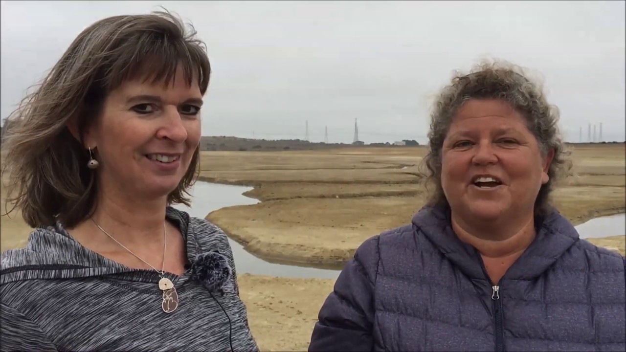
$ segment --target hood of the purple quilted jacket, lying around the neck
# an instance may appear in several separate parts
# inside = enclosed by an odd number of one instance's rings
[[[480,253],[454,234],[447,207],[423,207],[413,216],[412,223],[418,233],[433,242],[464,274],[474,279],[485,278]],[[535,219],[535,228],[535,240],[506,272],[504,279],[529,280],[538,277],[580,241],[578,231],[556,209]]]

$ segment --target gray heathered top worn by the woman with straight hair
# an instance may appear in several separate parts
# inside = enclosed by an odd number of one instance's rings
[[[180,304],[165,313],[155,271],[106,259],[74,241],[61,225],[37,229],[25,249],[2,254],[0,349],[230,351],[232,341],[235,351],[257,351],[227,237],[185,212],[168,208],[167,217],[185,237],[190,259],[216,250],[228,259],[233,275],[223,291],[210,292],[190,279],[189,271],[178,278],[166,274]]]

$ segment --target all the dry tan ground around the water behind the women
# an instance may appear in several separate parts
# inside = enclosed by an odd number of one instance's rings
[[[273,259],[341,262],[364,239],[405,224],[424,203],[416,184],[425,148],[346,148],[306,152],[203,152],[202,177],[256,185],[257,205],[218,210],[210,219],[248,249]],[[583,175],[555,192],[562,213],[575,224],[623,212],[623,145],[577,148]],[[3,187],[3,200],[5,190]],[[3,208],[4,210],[4,202]],[[2,217],[3,250],[23,246],[29,229],[19,217]],[[610,236],[612,234],[607,234]],[[593,239],[625,252],[624,236]],[[262,351],[307,349],[332,280],[239,276],[250,328]]]

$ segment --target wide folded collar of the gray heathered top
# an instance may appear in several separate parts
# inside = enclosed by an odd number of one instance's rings
[[[187,213],[168,207],[166,217],[178,226],[187,242],[188,256],[195,256],[197,243],[188,231]],[[0,284],[31,279],[68,279],[143,271],[131,269],[83,247],[71,237],[63,225],[34,229],[28,244],[9,249],[0,259]]]

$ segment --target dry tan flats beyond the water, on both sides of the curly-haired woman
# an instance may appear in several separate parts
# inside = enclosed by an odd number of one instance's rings
[[[209,219],[259,256],[341,263],[365,239],[408,223],[423,206],[418,165],[425,153],[424,147],[261,153],[260,158],[255,152],[220,152],[220,162],[213,167],[215,156],[207,152],[202,159],[204,177],[255,185],[247,195],[264,201],[221,209]],[[574,148],[572,158],[575,170],[583,172],[555,192],[562,214],[580,224],[623,212],[623,145]],[[242,165],[245,170],[240,170]]]

